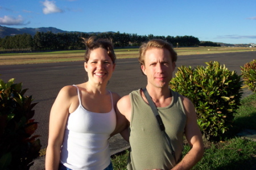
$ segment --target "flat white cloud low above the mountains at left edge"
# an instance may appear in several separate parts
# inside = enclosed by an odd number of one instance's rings
[[[13,16],[3,16],[3,18],[0,17],[0,24],[1,25],[27,25],[30,22],[24,23],[24,19],[21,15],[18,16],[18,18],[14,18]]]

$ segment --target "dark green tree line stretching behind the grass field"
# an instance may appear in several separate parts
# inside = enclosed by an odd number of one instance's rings
[[[97,36],[104,39],[110,39],[114,47],[124,46],[140,46],[142,42],[151,39],[163,39],[174,46],[200,46],[200,41],[197,37],[193,36],[154,36],[152,34],[146,36],[137,35],[136,33],[120,33],[120,32],[107,32],[107,33],[52,33],[36,32],[34,36],[28,33],[20,35],[6,36],[0,38],[0,49],[27,49],[31,50],[74,50],[84,49],[81,37],[88,38],[90,36]],[[207,41],[210,42],[210,41]],[[208,43],[210,46],[216,46],[214,42]],[[205,45],[204,45],[205,46]]]

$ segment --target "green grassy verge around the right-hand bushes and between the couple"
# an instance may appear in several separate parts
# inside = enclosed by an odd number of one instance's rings
[[[256,142],[237,137],[242,129],[256,130],[256,94],[242,99],[242,105],[234,115],[233,129],[227,138],[218,143],[205,143],[203,159],[193,169],[250,169],[256,165]],[[184,146],[183,155],[189,150]],[[114,169],[126,169],[128,151],[112,157]]]

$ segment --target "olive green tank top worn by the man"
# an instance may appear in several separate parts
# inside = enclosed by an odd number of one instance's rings
[[[158,112],[163,120],[166,133],[170,137],[176,162],[178,162],[182,156],[187,117],[179,94],[172,90],[171,94],[171,104],[163,108],[158,107]],[[140,90],[131,92],[130,99],[132,106],[129,138],[131,150],[127,169],[171,169],[175,166],[174,156],[159,129],[150,105],[143,100]]]

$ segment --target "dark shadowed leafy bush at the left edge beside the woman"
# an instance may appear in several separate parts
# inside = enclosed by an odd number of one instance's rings
[[[24,96],[22,83],[0,79],[0,169],[29,169],[39,156],[39,135],[33,135],[38,122],[31,119],[32,96]]]

